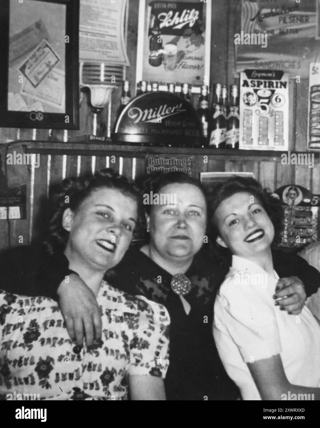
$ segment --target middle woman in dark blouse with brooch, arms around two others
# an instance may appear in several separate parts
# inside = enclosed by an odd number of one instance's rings
[[[173,194],[176,204],[144,205],[150,242],[127,252],[114,268],[112,285],[163,303],[170,314],[170,364],[165,379],[168,400],[234,400],[239,396],[238,389],[224,371],[211,331],[215,294],[228,269],[212,262],[203,188],[197,180],[180,172],[160,174],[145,184],[144,194]],[[298,277],[308,295],[317,290],[320,274],[306,269],[309,265],[303,259],[278,253],[274,261],[280,277]],[[43,267],[45,288],[43,281],[39,290],[37,281],[32,286],[30,281],[22,285],[21,279],[20,285],[15,282],[13,286],[20,287],[20,294],[45,294],[56,300],[57,293],[67,326],[70,319],[80,319],[83,325],[78,331],[70,327],[69,334],[81,343],[85,330],[86,342],[90,343],[94,324],[99,338],[100,326],[93,321],[96,303],[90,290],[68,270],[63,257],[54,255]],[[183,274],[182,278],[179,274]],[[64,276],[68,276],[68,283],[63,281]],[[298,278],[279,283],[278,297],[283,298],[278,303],[292,313],[298,313],[305,300]],[[108,281],[111,283],[110,276]],[[284,285],[287,288],[280,290]]]

